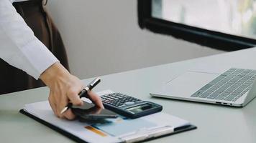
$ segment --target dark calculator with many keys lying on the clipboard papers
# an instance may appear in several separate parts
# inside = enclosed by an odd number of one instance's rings
[[[153,102],[146,102],[127,94],[112,93],[101,96],[106,109],[129,118],[138,118],[162,111],[163,107]]]

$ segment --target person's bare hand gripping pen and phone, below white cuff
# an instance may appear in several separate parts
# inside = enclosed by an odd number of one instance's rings
[[[84,85],[80,79],[71,75],[59,62],[52,64],[40,76],[40,79],[50,88],[49,102],[52,111],[56,116],[66,119],[74,119],[76,116],[68,109],[60,114],[61,110],[72,102],[74,105],[82,105],[82,100],[78,97]],[[101,97],[94,92],[88,92],[89,99],[97,106],[104,108]]]

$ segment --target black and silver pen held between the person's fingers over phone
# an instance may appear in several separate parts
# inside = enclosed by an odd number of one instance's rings
[[[99,77],[97,77],[96,79],[94,79],[90,84],[88,84],[78,95],[79,98],[82,97],[86,97],[88,98],[88,92],[91,91],[91,89],[93,89],[94,87],[96,87],[97,84],[99,84],[99,82],[101,82],[101,79],[99,79]],[[67,111],[70,107],[72,106],[72,103],[69,102],[67,106],[65,106],[65,108],[63,108],[63,110],[61,110],[60,114],[63,114],[65,111]]]

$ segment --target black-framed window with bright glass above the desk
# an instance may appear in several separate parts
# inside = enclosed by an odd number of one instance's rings
[[[256,0],[138,0],[142,29],[225,51],[256,45]]]

